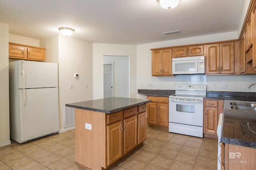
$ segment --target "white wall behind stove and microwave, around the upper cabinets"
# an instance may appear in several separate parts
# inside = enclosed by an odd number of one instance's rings
[[[156,43],[142,44],[137,46],[137,89],[166,89],[175,90],[176,77],[155,77],[151,76],[151,51],[150,49],[160,47],[171,47],[176,45],[190,45],[197,43],[209,43],[216,41],[226,41],[237,39],[237,32],[229,32],[214,35],[205,35],[199,37],[190,37],[186,39],[176,39],[171,41],[162,41]],[[138,63],[143,63],[141,66]],[[212,83],[217,83],[217,88],[212,88]],[[232,92],[255,92],[255,90],[246,90],[244,82],[256,82],[256,75],[251,76],[206,76],[206,85],[208,91],[232,91]],[[153,87],[148,87],[152,83]],[[228,88],[220,88],[221,83],[227,83]],[[146,98],[146,96],[137,94],[137,98]]]

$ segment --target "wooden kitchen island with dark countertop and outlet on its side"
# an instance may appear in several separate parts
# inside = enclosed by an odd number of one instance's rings
[[[104,98],[66,104],[76,113],[76,163],[108,169],[146,140],[146,103],[136,98]]]

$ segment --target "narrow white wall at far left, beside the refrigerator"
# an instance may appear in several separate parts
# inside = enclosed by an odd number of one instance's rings
[[[0,23],[0,147],[9,145],[9,25]]]

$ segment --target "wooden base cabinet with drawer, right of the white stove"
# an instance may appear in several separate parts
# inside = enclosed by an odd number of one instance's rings
[[[224,100],[204,100],[204,136],[217,138],[220,113],[223,113]]]

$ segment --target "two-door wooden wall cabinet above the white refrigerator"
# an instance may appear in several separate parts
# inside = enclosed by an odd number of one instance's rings
[[[9,58],[31,61],[45,61],[45,48],[9,43]]]

